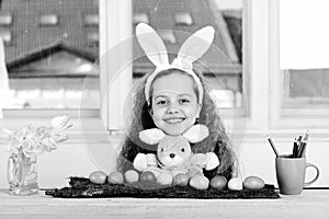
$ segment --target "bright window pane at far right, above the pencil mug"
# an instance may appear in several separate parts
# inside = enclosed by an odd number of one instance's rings
[[[329,104],[328,1],[280,1],[280,68],[283,107],[327,108]],[[307,14],[307,15],[305,15]]]

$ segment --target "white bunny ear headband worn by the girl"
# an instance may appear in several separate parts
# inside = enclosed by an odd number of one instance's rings
[[[145,84],[145,97],[149,103],[149,90],[156,76],[168,69],[180,69],[185,71],[194,79],[198,90],[198,103],[202,104],[203,87],[198,77],[193,71],[193,62],[203,56],[214,39],[215,30],[212,26],[206,26],[193,35],[191,35],[181,46],[177,58],[169,64],[169,58],[164,43],[157,32],[145,23],[139,23],[136,26],[136,35],[138,43],[144,49],[148,59],[157,67],[156,70],[148,77]]]

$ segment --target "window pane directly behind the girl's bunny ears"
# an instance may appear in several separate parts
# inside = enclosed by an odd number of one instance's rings
[[[206,25],[215,27],[213,46],[194,62],[194,68],[209,82],[218,107],[242,106],[242,0],[134,0],[133,13],[134,28],[145,22],[159,33],[170,61],[188,36]],[[133,50],[137,57],[134,79],[138,79],[155,66],[138,43]]]

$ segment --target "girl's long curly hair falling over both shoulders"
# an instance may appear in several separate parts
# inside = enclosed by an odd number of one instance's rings
[[[170,73],[183,73],[189,76],[186,72],[178,69],[169,69],[166,70],[166,72],[158,73],[158,76],[164,77]],[[200,78],[200,81],[204,89],[202,110],[200,112],[200,118],[196,124],[198,123],[207,126],[209,136],[201,142],[192,143],[192,152],[215,152],[219,159],[219,166],[212,171],[204,171],[205,176],[211,178],[216,174],[220,174],[229,180],[234,176],[234,172],[236,171],[236,154],[232,150],[228,135],[226,134],[225,127],[217,113],[215,101],[209,95],[209,85],[198,72],[195,73]],[[137,153],[157,152],[156,146],[147,145],[138,138],[139,131],[149,128],[157,128],[149,114],[149,105],[151,104],[147,103],[144,93],[145,83],[148,76],[149,74],[141,78],[136,83],[136,87],[134,89],[135,93],[133,94],[133,111],[131,112],[132,115],[126,115],[129,118],[129,123],[127,124],[127,129],[125,130],[126,136],[123,141],[121,153],[117,158],[116,168],[120,172],[126,172],[127,170],[134,169],[133,161]],[[157,80],[157,77],[155,78],[155,80]],[[196,88],[194,89],[197,91]]]

